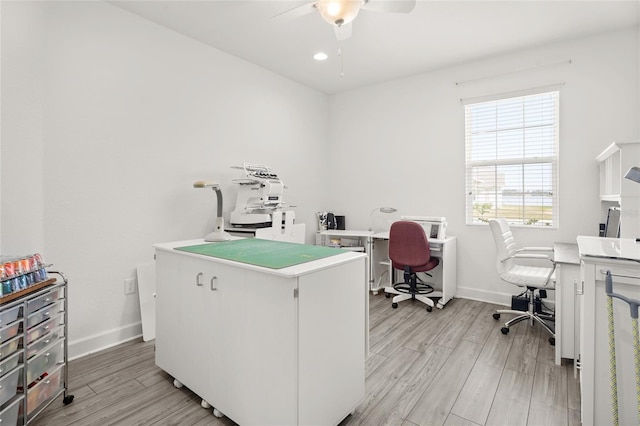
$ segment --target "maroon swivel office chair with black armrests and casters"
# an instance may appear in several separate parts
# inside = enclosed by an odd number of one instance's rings
[[[391,306],[395,309],[403,300],[419,300],[427,305],[427,311],[433,309],[433,300],[426,295],[433,292],[433,287],[419,282],[418,272],[427,272],[438,266],[440,261],[431,257],[429,241],[422,225],[416,222],[401,220],[394,222],[389,230],[389,259],[393,270],[404,271],[404,281],[385,287],[386,297],[393,298]]]

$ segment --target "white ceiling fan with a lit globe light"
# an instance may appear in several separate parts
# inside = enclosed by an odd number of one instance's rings
[[[351,22],[360,10],[371,12],[409,13],[416,0],[316,0],[287,10],[274,18],[297,18],[318,11],[334,29],[338,40],[351,37]]]

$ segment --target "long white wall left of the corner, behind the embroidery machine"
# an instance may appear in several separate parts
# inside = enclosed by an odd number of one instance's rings
[[[140,334],[123,280],[152,244],[213,229],[242,162],[300,222],[324,204],[328,99],[102,2],[3,2],[2,247],[69,278],[70,354]],[[309,240],[314,229],[309,229]]]

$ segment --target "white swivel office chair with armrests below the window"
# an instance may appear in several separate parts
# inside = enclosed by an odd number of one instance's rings
[[[509,284],[516,285],[525,289],[527,295],[528,309],[526,311],[513,309],[498,309],[493,314],[493,318],[500,319],[501,314],[515,314],[515,318],[507,321],[500,331],[502,334],[509,333],[509,328],[521,321],[528,320],[531,326],[535,322],[539,323],[551,337],[549,343],[555,345],[555,332],[547,322],[554,321],[553,314],[541,312],[541,302],[536,300],[536,290],[553,290],[554,272],[556,269],[553,260],[553,248],[551,247],[522,247],[518,248],[509,224],[504,219],[495,219],[489,221],[491,232],[496,243],[497,260],[496,267],[500,279]],[[551,256],[543,254],[551,252]],[[523,264],[523,260],[529,264]],[[544,266],[531,266],[531,261],[543,262]],[[537,263],[537,262],[534,262]],[[538,302],[538,304],[536,303]],[[536,309],[538,305],[538,309]],[[555,327],[554,327],[555,328]]]

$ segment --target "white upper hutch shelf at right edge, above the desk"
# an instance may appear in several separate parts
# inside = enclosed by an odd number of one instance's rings
[[[620,207],[620,237],[640,237],[640,184],[625,179],[633,166],[640,165],[640,142],[612,143],[596,157],[600,172],[601,221],[609,207]]]

